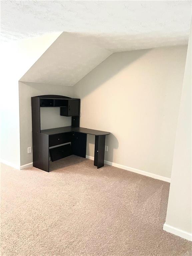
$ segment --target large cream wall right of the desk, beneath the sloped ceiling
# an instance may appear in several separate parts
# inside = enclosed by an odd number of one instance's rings
[[[80,125],[111,132],[105,160],[170,178],[186,52],[114,53],[73,87]],[[94,156],[94,137],[87,143]]]

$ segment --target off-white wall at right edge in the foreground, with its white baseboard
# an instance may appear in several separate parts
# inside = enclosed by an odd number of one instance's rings
[[[191,56],[192,38],[190,35],[175,140],[167,216],[163,229],[192,241]]]

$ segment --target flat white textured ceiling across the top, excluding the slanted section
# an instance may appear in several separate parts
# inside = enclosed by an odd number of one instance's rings
[[[4,41],[80,33],[113,52],[187,44],[191,1],[1,1]]]

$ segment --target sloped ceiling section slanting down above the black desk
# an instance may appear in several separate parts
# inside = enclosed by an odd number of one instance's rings
[[[111,54],[89,37],[63,32],[20,81],[73,86]]]

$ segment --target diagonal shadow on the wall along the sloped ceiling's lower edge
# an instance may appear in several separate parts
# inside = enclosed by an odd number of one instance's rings
[[[102,84],[104,84],[106,81],[110,80],[113,76],[122,71],[124,68],[128,67],[130,64],[133,64],[136,60],[140,59],[143,55],[147,54],[151,50],[152,49],[113,53],[74,85],[74,87],[77,86],[77,88],[75,88],[74,96],[77,97],[77,95],[81,95],[81,99],[83,99]],[[145,69],[145,67],[143,67],[143,69]],[[95,79],[93,79],[93,75]],[[90,79],[92,82],[89,83],[88,86],[86,80]]]

